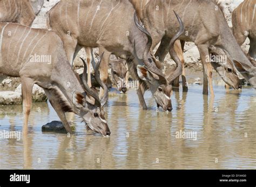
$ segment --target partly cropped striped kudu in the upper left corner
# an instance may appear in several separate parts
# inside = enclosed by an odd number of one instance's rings
[[[43,0],[1,0],[0,22],[31,26],[43,3]]]

